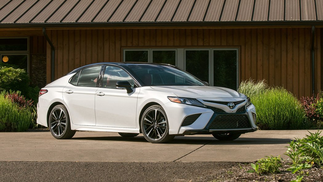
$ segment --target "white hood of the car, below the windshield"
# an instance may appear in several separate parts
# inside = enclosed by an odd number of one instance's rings
[[[232,89],[211,86],[151,86],[151,88],[171,92],[186,98],[245,98]]]

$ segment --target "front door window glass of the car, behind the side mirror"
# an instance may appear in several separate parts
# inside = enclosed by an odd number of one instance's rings
[[[116,89],[116,83],[118,81],[129,81],[131,87],[133,88],[134,81],[132,78],[120,68],[107,66],[104,71],[103,76],[103,88]]]

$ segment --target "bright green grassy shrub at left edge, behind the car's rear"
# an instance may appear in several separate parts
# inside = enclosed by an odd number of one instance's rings
[[[33,113],[30,107],[19,107],[0,93],[0,131],[25,131],[31,125]]]

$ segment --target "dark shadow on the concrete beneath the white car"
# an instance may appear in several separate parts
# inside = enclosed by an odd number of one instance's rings
[[[73,140],[96,140],[96,141],[129,141],[129,142],[147,142],[143,136],[137,137],[73,137]],[[167,144],[187,144],[187,145],[262,145],[262,144],[287,144],[293,139],[279,138],[238,138],[231,141],[217,140],[214,137],[192,137],[177,136]]]

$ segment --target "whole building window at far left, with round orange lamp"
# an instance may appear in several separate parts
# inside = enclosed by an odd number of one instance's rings
[[[0,38],[0,57],[2,65],[14,65],[29,72],[28,38]]]

